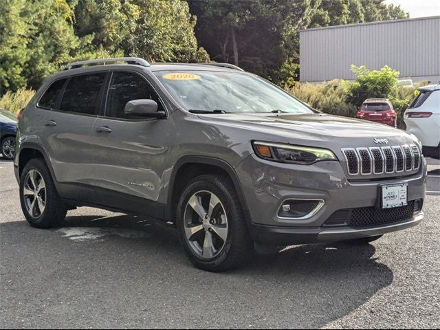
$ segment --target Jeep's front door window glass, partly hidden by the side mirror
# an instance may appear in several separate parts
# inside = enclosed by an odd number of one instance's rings
[[[141,99],[155,100],[157,111],[163,111],[157,94],[142,76],[131,72],[114,72],[107,97],[106,115],[112,118],[127,118],[124,111],[125,104]]]

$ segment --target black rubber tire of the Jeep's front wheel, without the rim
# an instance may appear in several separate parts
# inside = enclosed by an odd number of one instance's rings
[[[230,191],[227,189],[228,185],[229,183],[225,182],[225,179],[223,178],[220,179],[214,175],[202,175],[192,180],[186,186],[186,188],[184,188],[181,198],[179,199],[179,203],[177,203],[177,230],[179,232],[179,240],[181,241],[181,245],[183,245],[190,261],[192,261],[192,263],[197,267],[204,270],[215,272],[228,269],[234,263],[234,261],[228,261],[228,259],[230,259],[230,257],[236,257],[231,256],[230,254],[234,248],[234,244],[240,239],[240,235],[237,235],[240,230],[238,230],[239,228],[237,227],[243,225],[243,217],[238,199],[234,200],[234,197],[229,195]],[[195,254],[195,252],[193,252],[188,240],[186,239],[184,228],[184,212],[186,204],[192,195],[201,190],[206,190],[217,195],[223,204],[226,216],[228,217],[228,239],[226,239],[226,243],[223,246],[220,254],[211,259],[201,259],[199,256],[197,256],[197,254]],[[241,229],[243,230],[243,228]],[[236,253],[237,251],[234,251],[234,254]]]

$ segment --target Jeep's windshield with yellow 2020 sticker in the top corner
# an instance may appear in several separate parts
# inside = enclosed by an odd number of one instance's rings
[[[155,72],[189,111],[217,113],[314,113],[267,81],[235,72]]]

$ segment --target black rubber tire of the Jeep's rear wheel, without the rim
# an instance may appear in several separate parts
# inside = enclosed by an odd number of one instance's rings
[[[38,216],[30,214],[26,206],[28,201],[25,200],[26,197],[24,195],[25,180],[28,174],[32,173],[31,171],[37,171],[37,173],[39,173],[44,179],[45,183],[45,208]],[[23,173],[21,173],[20,177],[20,202],[21,210],[23,210],[23,214],[25,214],[26,219],[32,227],[47,229],[58,227],[63,224],[67,214],[67,208],[58,196],[52,175],[50,175],[50,171],[43,159],[31,159],[28,164],[25,165],[25,168],[23,168]]]

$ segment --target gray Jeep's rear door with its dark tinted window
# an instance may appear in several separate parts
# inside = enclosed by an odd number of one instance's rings
[[[45,117],[42,138],[63,197],[96,202],[91,184],[95,155],[90,138],[102,108],[106,78],[107,72],[80,74],[65,78],[56,86],[59,89],[62,85],[62,92]],[[39,101],[40,107],[45,107],[46,94]],[[50,94],[47,96],[49,99]]]

